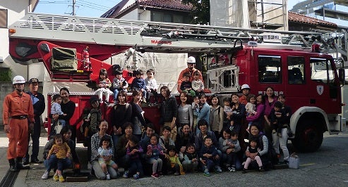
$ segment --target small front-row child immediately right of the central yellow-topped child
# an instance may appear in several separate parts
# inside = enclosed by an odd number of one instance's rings
[[[198,169],[198,155],[196,153],[195,145],[192,143],[186,146],[184,154],[182,157],[182,165],[185,172],[197,172]]]

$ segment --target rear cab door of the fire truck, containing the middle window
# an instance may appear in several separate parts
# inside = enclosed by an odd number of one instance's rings
[[[287,62],[284,63],[284,90],[287,96],[287,104],[291,103],[292,110],[295,111],[304,105],[309,105],[305,74],[304,56],[286,56]]]

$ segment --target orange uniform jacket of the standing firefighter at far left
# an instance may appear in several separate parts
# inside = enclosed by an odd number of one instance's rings
[[[32,100],[27,93],[23,93],[20,97],[17,91],[8,94],[4,99],[4,124],[9,124],[9,117],[14,115],[28,115],[30,122],[34,122],[34,108]]]

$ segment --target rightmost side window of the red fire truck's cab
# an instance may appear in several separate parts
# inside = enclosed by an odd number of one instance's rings
[[[335,82],[335,73],[331,62],[325,58],[311,58],[311,79],[316,82],[330,84]]]

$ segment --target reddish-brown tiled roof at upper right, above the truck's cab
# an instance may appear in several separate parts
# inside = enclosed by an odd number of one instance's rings
[[[321,25],[321,26],[325,26],[325,27],[337,27],[337,25],[333,22],[327,22],[324,20],[319,20],[316,18],[311,18],[308,17],[306,15],[302,15],[299,13],[293,13],[289,11],[289,21],[292,22],[300,22],[300,23],[304,23],[304,24],[309,24],[309,25]]]

